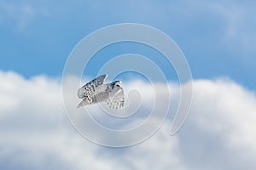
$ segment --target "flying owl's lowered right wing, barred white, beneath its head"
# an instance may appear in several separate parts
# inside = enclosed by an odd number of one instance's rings
[[[109,96],[106,100],[106,104],[109,108],[118,109],[124,106],[125,103],[125,95],[123,88],[119,88],[119,90],[113,94],[113,96]]]

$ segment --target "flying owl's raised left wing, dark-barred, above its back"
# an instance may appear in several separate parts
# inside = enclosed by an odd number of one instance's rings
[[[102,83],[108,77],[108,75],[102,75],[96,77],[90,82],[87,82],[82,88],[78,90],[79,99],[88,99],[89,101],[93,98],[93,96],[97,93],[97,91],[101,88]]]

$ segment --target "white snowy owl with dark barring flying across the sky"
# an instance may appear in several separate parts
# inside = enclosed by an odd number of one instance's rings
[[[106,102],[109,108],[118,109],[124,106],[125,97],[122,82],[114,81],[108,84],[103,84],[108,75],[96,77],[90,82],[87,82],[78,90],[79,99],[83,99],[79,105],[91,105],[100,102]]]

